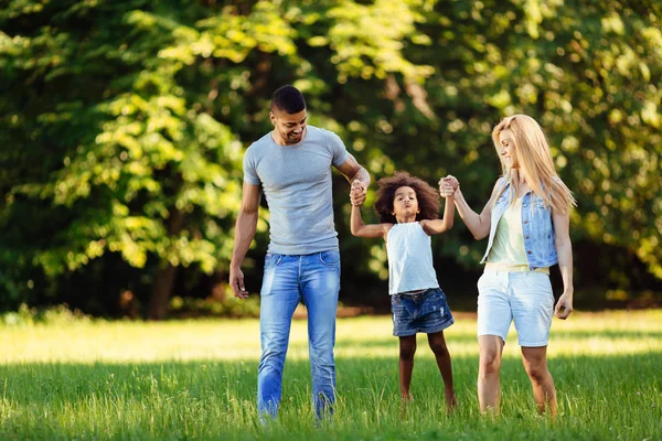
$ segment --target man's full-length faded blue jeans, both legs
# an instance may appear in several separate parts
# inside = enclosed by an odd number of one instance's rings
[[[292,314],[303,300],[317,418],[333,412],[335,402],[335,311],[340,291],[340,252],[287,256],[268,254],[260,292],[261,357],[257,372],[260,418],[276,418]]]

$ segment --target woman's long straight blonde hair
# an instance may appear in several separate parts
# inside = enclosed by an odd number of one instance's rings
[[[500,154],[501,142],[499,138],[505,130],[512,132],[511,143],[515,152],[513,160],[519,164],[519,171],[508,169]],[[531,190],[544,201],[546,206],[551,206],[554,211],[560,213],[567,213],[570,207],[577,205],[573,192],[556,174],[554,160],[549,152],[549,143],[535,119],[526,115],[513,115],[504,118],[492,130],[492,141],[496,148],[496,154],[501,161],[503,178],[505,179],[498,196],[505,191],[505,184],[512,185],[513,192],[511,194],[517,194],[520,185],[517,173],[522,173]],[[514,203],[514,200],[512,197],[511,202]]]

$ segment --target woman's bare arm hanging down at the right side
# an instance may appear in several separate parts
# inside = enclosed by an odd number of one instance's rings
[[[573,244],[570,241],[570,215],[569,213],[552,212],[554,222],[554,234],[556,254],[558,255],[558,268],[563,278],[563,294],[556,302],[554,313],[559,319],[567,319],[573,312],[573,297],[575,287],[573,286]]]

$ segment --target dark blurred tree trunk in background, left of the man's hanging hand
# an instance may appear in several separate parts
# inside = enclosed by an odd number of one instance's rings
[[[168,216],[168,236],[174,237],[179,235],[184,226],[184,213],[181,209],[174,207],[170,208],[170,215]],[[168,313],[168,302],[172,294],[172,287],[174,286],[174,278],[177,276],[178,267],[172,266],[170,262],[162,262],[154,276],[154,284],[152,288],[151,297],[149,299],[149,320],[163,320]]]

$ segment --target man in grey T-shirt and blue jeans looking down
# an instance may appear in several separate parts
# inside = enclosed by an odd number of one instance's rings
[[[292,314],[299,300],[308,310],[312,392],[317,418],[335,401],[335,311],[340,252],[333,224],[331,165],[365,198],[370,174],[333,132],[307,126],[306,100],[292,86],[271,97],[274,130],[244,157],[242,207],[236,222],[229,284],[245,299],[242,261],[255,236],[264,190],[270,211],[270,241],[260,291],[261,357],[257,375],[260,418],[276,418]]]

